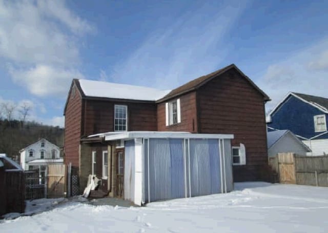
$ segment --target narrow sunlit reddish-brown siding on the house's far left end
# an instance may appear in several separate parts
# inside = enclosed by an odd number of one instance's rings
[[[74,86],[65,112],[65,163],[79,166],[79,144],[81,137],[82,100]]]

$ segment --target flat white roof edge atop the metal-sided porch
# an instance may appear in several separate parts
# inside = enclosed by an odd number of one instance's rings
[[[171,131],[126,131],[126,132],[107,132],[90,135],[88,138],[105,138],[106,141],[127,140],[134,138],[175,138],[175,139],[233,139],[233,134],[212,134],[212,133],[190,133],[190,132],[171,132]]]

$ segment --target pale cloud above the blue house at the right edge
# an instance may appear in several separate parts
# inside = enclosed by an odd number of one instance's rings
[[[267,110],[272,109],[290,91],[328,98],[328,63],[324,60],[328,54],[326,51],[328,40],[323,38],[271,64],[257,83],[272,99],[267,103]]]

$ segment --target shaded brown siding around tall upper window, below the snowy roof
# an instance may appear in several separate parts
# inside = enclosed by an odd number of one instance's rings
[[[129,131],[156,131],[156,104],[85,100],[85,136],[114,131],[114,105],[128,106]]]

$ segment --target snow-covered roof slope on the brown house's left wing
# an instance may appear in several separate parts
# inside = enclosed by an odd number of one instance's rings
[[[171,91],[93,80],[78,80],[78,82],[86,96],[98,98],[156,101]]]

